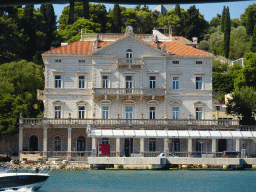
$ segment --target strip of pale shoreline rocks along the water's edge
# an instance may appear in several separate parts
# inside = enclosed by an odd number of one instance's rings
[[[10,169],[12,170],[29,170],[36,169],[39,170],[44,169],[52,169],[52,170],[85,170],[85,169],[99,169],[96,166],[90,166],[86,162],[68,162],[68,161],[52,161],[46,163],[38,163],[38,162],[26,162],[22,161],[19,164],[14,163],[14,161],[8,162]],[[114,168],[105,168],[106,170],[236,170],[239,168],[231,167],[229,165],[177,165],[177,167],[169,168],[154,168],[152,165],[115,165]],[[244,168],[243,168],[244,169]],[[243,170],[241,169],[241,170]],[[256,170],[256,165],[253,165],[250,170]],[[246,169],[248,170],[248,169]]]

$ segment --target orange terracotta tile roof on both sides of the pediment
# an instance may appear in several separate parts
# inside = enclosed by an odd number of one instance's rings
[[[100,48],[112,43],[113,41],[100,41]],[[153,41],[145,41],[148,44],[157,47],[157,44]],[[92,47],[95,41],[75,41],[66,46],[58,47],[45,52],[44,54],[90,54],[92,53]],[[176,56],[214,56],[211,53],[184,45],[178,42],[159,42],[160,47],[166,44],[166,52],[171,51],[170,55]]]

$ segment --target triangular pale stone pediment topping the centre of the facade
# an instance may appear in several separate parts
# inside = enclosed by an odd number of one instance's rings
[[[156,47],[153,47],[152,45],[144,42],[143,40],[134,37],[133,35],[126,35],[121,39],[118,39],[114,41],[113,43],[110,43],[106,46],[104,46],[101,49],[98,49],[94,52],[92,52],[91,56],[117,56],[119,58],[125,58],[126,50],[131,49],[134,52],[133,58],[136,57],[136,53],[141,52],[143,54],[140,54],[139,57],[142,56],[167,56],[168,54],[163,52],[161,49],[157,49]]]

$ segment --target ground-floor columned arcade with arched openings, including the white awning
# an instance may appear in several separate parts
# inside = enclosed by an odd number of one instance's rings
[[[127,134],[124,130],[102,130],[88,133],[86,128],[20,128],[19,151],[40,153],[46,158],[75,159],[97,156],[98,144],[109,144],[112,157],[156,157],[166,150],[181,157],[195,151],[217,157],[222,151],[240,151],[242,148],[246,149],[247,155],[256,154],[254,131],[247,131],[247,135],[241,131],[205,131],[209,135],[203,135],[203,132],[196,130],[186,130],[187,133],[169,131],[166,134],[159,131],[152,134],[152,130],[129,130]],[[140,135],[139,131],[143,134]]]

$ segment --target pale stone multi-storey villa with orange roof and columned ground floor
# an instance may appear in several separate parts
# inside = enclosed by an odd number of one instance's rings
[[[136,35],[127,27],[125,34],[85,34],[42,56],[45,89],[38,98],[45,114],[20,119],[20,151],[86,156],[95,155],[101,143],[110,144],[111,156],[156,156],[165,149],[185,155],[239,147],[230,137],[198,136],[198,130],[236,130],[238,125],[226,126],[212,116],[210,53],[171,35]],[[136,135],[139,130],[144,136]],[[181,132],[161,136],[152,130]],[[186,135],[191,130],[197,136]]]

